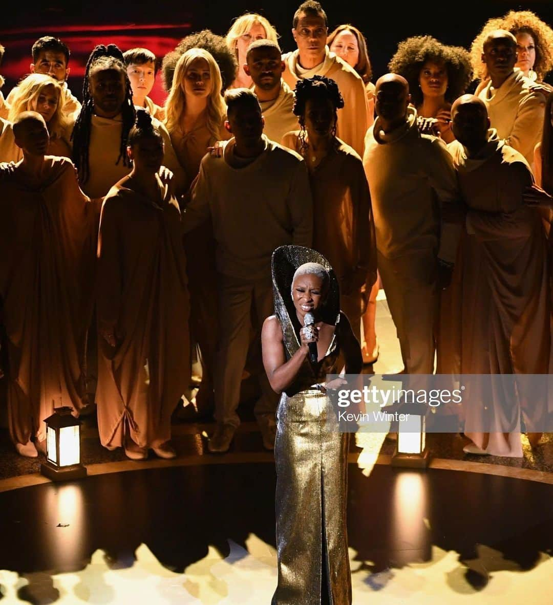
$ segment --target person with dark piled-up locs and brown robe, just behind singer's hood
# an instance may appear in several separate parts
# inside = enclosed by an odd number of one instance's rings
[[[358,154],[335,135],[336,113],[344,99],[324,76],[299,80],[294,113],[301,130],[283,145],[303,156],[313,198],[313,249],[332,265],[341,309],[361,341],[361,288],[376,281],[375,227],[370,193]]]

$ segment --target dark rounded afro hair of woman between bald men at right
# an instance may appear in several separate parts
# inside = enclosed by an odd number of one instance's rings
[[[446,46],[432,36],[413,36],[399,43],[388,69],[407,80],[413,105],[418,107],[423,101],[419,87],[420,70],[429,60],[445,65],[448,79],[445,99],[453,103],[465,92],[473,79],[470,55],[465,48]]]

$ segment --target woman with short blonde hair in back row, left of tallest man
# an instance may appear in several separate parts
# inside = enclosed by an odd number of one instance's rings
[[[249,45],[257,40],[270,40],[276,43],[277,38],[275,28],[262,15],[245,13],[235,19],[226,34],[227,47],[234,53],[238,64],[238,71],[230,88],[252,87],[252,78],[244,70]]]

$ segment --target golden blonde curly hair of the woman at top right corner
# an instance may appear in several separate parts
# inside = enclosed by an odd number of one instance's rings
[[[535,44],[534,71],[538,80],[547,76],[553,68],[553,30],[532,11],[511,10],[503,17],[488,19],[482,31],[474,38],[471,60],[475,77],[483,80],[488,76],[486,65],[482,63],[482,52],[486,38],[495,30],[507,30],[514,36],[522,31],[530,34]]]

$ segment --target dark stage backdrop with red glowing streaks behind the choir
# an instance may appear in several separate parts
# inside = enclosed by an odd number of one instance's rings
[[[300,0],[245,2],[243,0],[157,0],[137,3],[117,0],[11,0],[2,2],[0,44],[6,48],[0,73],[7,82],[4,95],[28,73],[30,47],[36,38],[52,34],[70,46],[71,90],[80,97],[88,54],[96,44],[117,44],[123,51],[144,46],[162,57],[186,34],[209,28],[225,34],[231,21],[244,11],[266,16],[281,36],[284,51],[295,48],[292,16]],[[375,79],[387,71],[387,63],[399,41],[417,34],[430,34],[447,44],[470,47],[486,19],[508,10],[533,10],[553,25],[553,0],[508,2],[322,2],[329,17],[329,28],[352,23],[365,34],[373,62]],[[152,98],[165,97],[160,78]]]

